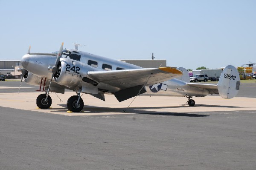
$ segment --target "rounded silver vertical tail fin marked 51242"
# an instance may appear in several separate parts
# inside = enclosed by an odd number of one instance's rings
[[[233,98],[239,92],[240,77],[234,66],[226,66],[218,82],[218,92],[222,98]]]

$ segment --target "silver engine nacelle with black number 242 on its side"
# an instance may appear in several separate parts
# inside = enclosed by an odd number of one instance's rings
[[[58,71],[54,75],[54,78],[60,85],[75,88],[81,83],[82,78],[85,77],[88,71],[93,71],[93,69],[84,66],[80,61],[70,58],[61,58]]]

